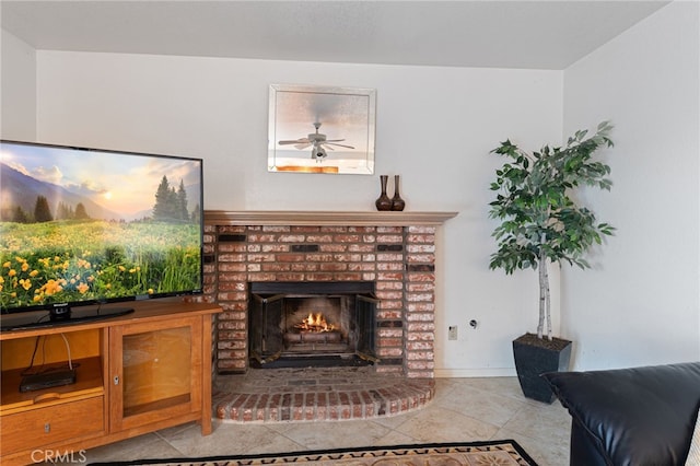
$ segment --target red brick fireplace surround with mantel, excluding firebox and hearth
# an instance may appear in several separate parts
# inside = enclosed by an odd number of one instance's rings
[[[377,373],[433,377],[435,232],[454,212],[230,212],[205,217],[219,374],[249,369],[252,283],[371,282]]]

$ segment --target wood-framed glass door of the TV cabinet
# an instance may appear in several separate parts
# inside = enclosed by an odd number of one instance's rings
[[[191,317],[110,330],[114,430],[200,409],[200,327],[201,319]]]

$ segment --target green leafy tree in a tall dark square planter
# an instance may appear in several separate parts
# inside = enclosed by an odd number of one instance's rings
[[[527,333],[513,341],[515,369],[528,398],[553,401],[539,375],[568,370],[571,357],[571,341],[552,337],[548,264],[588,268],[584,254],[615,230],[597,223],[595,214],[572,197],[581,185],[610,189],[610,167],[591,160],[599,148],[612,147],[610,129],[604,121],[592,137],[586,138],[586,130],[576,131],[563,148],[545,145],[527,153],[506,140],[491,151],[508,161],[491,183],[498,195],[489,213],[501,223],[493,231],[498,251],[491,255],[490,268],[502,268],[508,275],[527,268],[539,272],[537,334]]]

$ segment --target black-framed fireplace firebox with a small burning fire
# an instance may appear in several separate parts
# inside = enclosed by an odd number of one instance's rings
[[[250,366],[377,361],[374,282],[252,282],[248,289]]]

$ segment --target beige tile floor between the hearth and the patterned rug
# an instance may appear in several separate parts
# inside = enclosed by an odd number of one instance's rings
[[[438,378],[424,408],[372,420],[185,424],[86,452],[88,462],[514,439],[540,466],[569,464],[571,418],[523,397],[517,378]]]

